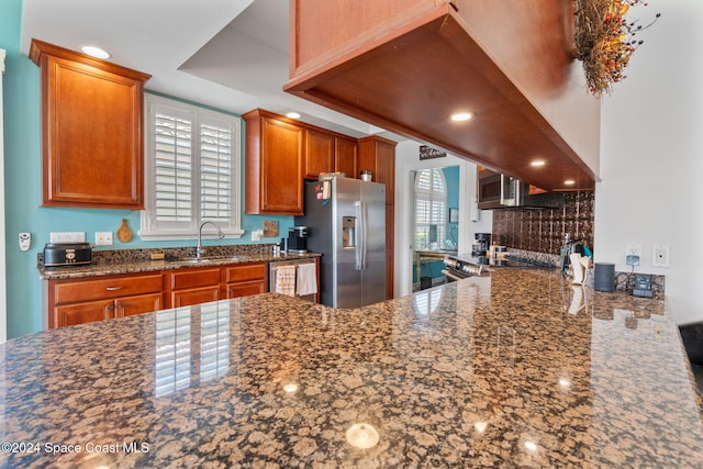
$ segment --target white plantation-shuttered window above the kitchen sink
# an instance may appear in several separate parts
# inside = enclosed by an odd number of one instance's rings
[[[201,222],[214,221],[227,237],[241,237],[241,120],[153,94],[145,99],[146,210],[140,236],[192,239]]]

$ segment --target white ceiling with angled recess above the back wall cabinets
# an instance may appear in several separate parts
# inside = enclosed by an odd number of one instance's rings
[[[304,122],[356,137],[404,137],[282,91],[289,0],[24,0],[22,53],[32,38],[86,44],[109,62],[152,75],[153,90],[243,114],[297,111]]]

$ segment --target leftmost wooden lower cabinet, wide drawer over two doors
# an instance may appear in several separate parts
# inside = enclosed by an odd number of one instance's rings
[[[164,276],[160,271],[96,279],[48,280],[45,286],[49,328],[165,308]]]

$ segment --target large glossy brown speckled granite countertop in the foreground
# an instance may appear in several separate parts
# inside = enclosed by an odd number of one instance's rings
[[[47,331],[0,345],[0,466],[701,467],[668,308],[506,268]]]

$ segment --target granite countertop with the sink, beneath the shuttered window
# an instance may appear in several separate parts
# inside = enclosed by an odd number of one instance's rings
[[[164,260],[152,260],[152,253],[166,255]],[[46,267],[43,255],[37,259],[37,270],[44,280],[79,279],[87,277],[111,276],[120,273],[153,272],[180,268],[226,266],[246,263],[270,263],[281,260],[299,260],[320,257],[317,253],[306,254],[272,254],[271,246],[212,246],[200,261],[196,261],[196,248],[164,248],[164,249],[119,249],[93,250],[92,263],[85,266]]]

